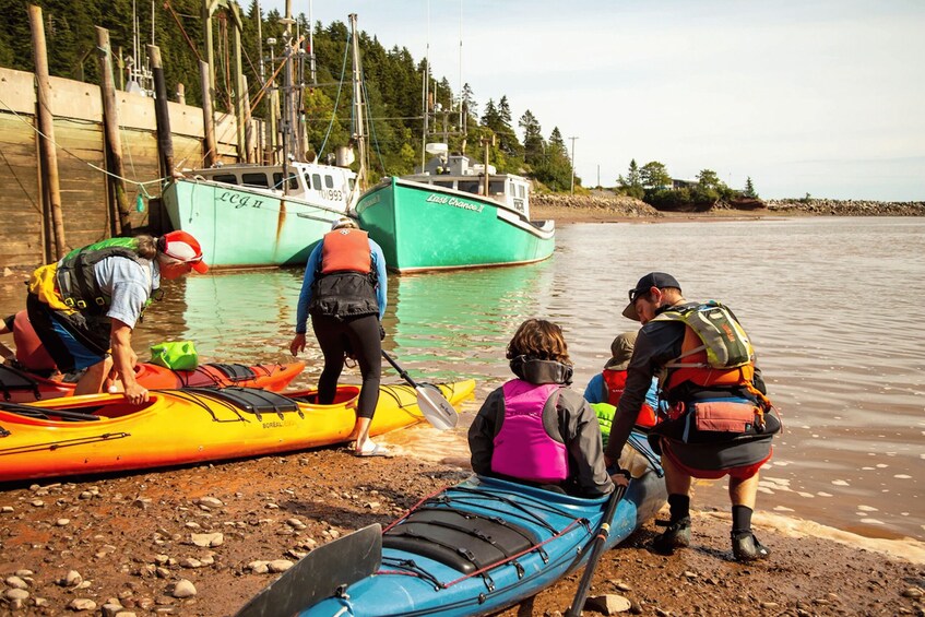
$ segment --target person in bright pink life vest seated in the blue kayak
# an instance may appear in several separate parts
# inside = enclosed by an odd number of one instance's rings
[[[612,493],[597,418],[568,389],[572,366],[561,329],[527,319],[507,358],[517,379],[485,399],[469,429],[473,471],[585,497]]]

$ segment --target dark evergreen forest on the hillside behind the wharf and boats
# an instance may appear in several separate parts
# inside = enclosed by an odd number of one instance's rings
[[[0,66],[34,71],[27,10],[29,4],[43,10],[49,71],[52,75],[99,84],[94,28],[100,26],[109,31],[112,56],[118,66],[119,58],[132,56],[134,8],[142,47],[152,43],[153,38],[153,43],[161,48],[167,91],[175,93],[177,85],[183,84],[186,102],[190,105],[201,104],[199,60],[205,58],[202,0],[157,0],[154,4],[133,0],[0,0],[0,12],[7,22],[5,27],[0,29]],[[261,48],[265,74],[270,75],[274,71],[273,60],[278,66],[285,44],[285,25],[281,23],[283,15],[276,10],[260,13],[256,0],[251,0],[247,10],[241,11],[241,57],[251,100],[257,99],[261,84]],[[295,29],[307,34],[309,24],[305,14],[298,14],[295,20]],[[327,26],[316,22],[310,27],[316,80],[305,88],[299,107],[305,111],[308,141],[312,150],[324,156],[336,145],[347,144],[352,137],[352,68],[348,58],[345,63],[349,28],[341,21]],[[213,19],[216,63],[213,105],[222,111],[233,110],[229,79],[232,28],[232,20],[224,14]],[[263,46],[260,45],[260,38],[263,39]],[[270,38],[277,40],[274,49],[268,48],[266,41]],[[305,38],[308,39],[308,36]],[[431,84],[431,95],[427,102],[429,123],[431,129],[443,135],[450,151],[464,150],[465,154],[481,159],[484,153],[483,140],[488,140],[493,143],[489,145],[491,164],[500,173],[530,176],[554,191],[569,189],[572,180],[571,161],[558,127],[552,130],[548,138],[544,137],[539,120],[530,110],[514,124],[505,94],[490,96],[481,105],[470,84],[464,84],[462,92],[453,92],[446,78],[434,75],[427,62],[415,59],[406,47],[393,46],[387,49],[375,35],[365,31],[358,34],[358,46],[367,92],[365,103],[369,116],[368,139],[373,174],[412,173],[420,162],[424,142],[437,141],[434,139],[436,135],[428,135],[427,140],[423,135],[425,111],[422,84],[426,73]],[[140,56],[145,57],[143,49]],[[122,79],[117,76],[117,84],[124,81],[124,64],[121,72]],[[256,116],[265,115],[266,98],[254,108]],[[462,115],[459,106],[462,106]],[[574,182],[580,186],[581,179],[576,177]]]

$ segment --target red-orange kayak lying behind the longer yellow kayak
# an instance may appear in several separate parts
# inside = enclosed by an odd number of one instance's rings
[[[171,370],[153,364],[135,367],[135,379],[149,390],[180,388],[265,388],[281,391],[305,369],[305,363],[287,365],[204,364],[194,370]],[[36,400],[70,396],[74,383],[62,381],[58,373],[46,378],[7,364],[0,365],[0,401],[31,403]]]

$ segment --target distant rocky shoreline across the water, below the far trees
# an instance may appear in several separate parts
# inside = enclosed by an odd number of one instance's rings
[[[671,221],[676,218],[760,218],[764,216],[925,216],[925,202],[793,199],[757,200],[748,207],[718,203],[707,212],[660,212],[638,199],[594,192],[586,195],[532,195],[533,218],[578,221]]]

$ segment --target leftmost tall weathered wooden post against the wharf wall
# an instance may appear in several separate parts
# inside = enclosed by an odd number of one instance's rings
[[[38,90],[38,105],[36,106],[36,118],[38,119],[39,149],[41,152],[41,169],[47,188],[48,203],[47,212],[51,218],[51,236],[55,238],[55,248],[46,247],[46,257],[59,260],[68,252],[64,244],[64,216],[61,211],[61,188],[58,178],[58,151],[55,145],[55,119],[51,116],[51,83],[48,79],[48,52],[45,47],[45,23],[41,21],[41,8],[29,4],[28,20],[32,26],[32,49],[35,60],[35,82]],[[46,233],[46,238],[49,235]],[[50,242],[49,242],[50,245]]]

